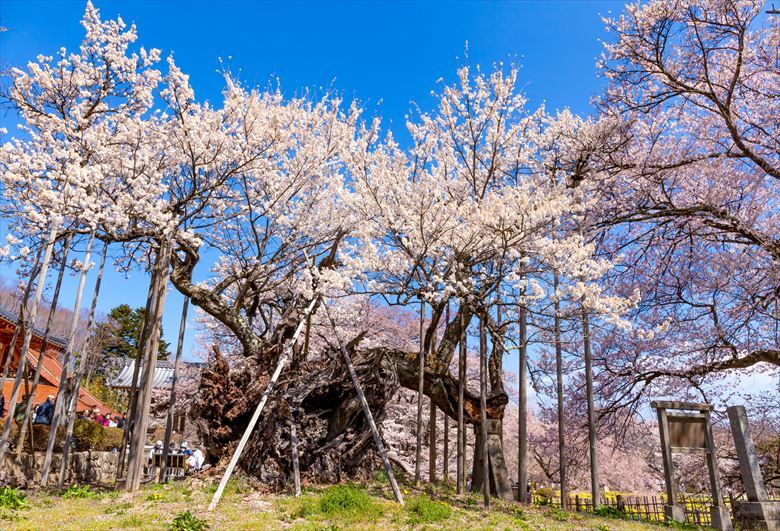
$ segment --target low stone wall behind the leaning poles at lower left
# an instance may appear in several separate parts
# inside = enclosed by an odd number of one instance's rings
[[[11,453],[5,456],[3,468],[4,483],[12,486],[26,486],[33,482],[38,484],[41,479],[44,452],[21,454],[19,458]],[[116,480],[116,467],[119,454],[116,452],[74,452],[71,455],[70,466],[65,477],[66,484],[108,485]],[[52,456],[49,485],[56,485],[59,476],[62,454]]]

